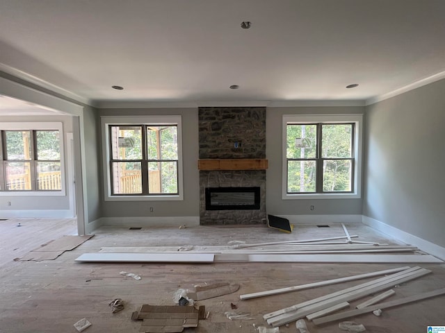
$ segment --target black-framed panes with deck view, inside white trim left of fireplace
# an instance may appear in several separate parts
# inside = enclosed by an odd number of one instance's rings
[[[112,196],[179,194],[177,124],[108,128]]]

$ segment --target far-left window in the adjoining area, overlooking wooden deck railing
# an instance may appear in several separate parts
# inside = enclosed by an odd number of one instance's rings
[[[35,129],[29,129],[31,126]],[[0,191],[64,195],[61,123],[2,123]]]

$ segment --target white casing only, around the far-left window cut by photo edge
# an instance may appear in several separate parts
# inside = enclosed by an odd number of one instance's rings
[[[65,145],[63,123],[60,122],[2,122],[0,123],[0,130],[58,130],[59,144],[60,144],[60,182],[61,189],[54,191],[0,191],[0,196],[65,196],[66,182],[65,182]],[[3,168],[1,170],[4,172]],[[4,179],[4,174],[0,175]]]

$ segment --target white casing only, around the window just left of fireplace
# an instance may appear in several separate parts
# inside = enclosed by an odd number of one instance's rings
[[[105,201],[172,201],[184,200],[184,176],[182,162],[182,125],[181,116],[101,116],[102,124],[102,164],[104,166],[104,200]],[[109,142],[109,126],[119,125],[176,125],[178,135],[178,194],[162,194],[162,195],[111,195],[111,170],[110,170],[110,145]]]

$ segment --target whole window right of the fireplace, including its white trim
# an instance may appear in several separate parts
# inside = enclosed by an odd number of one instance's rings
[[[360,196],[360,115],[283,116],[283,198]]]

